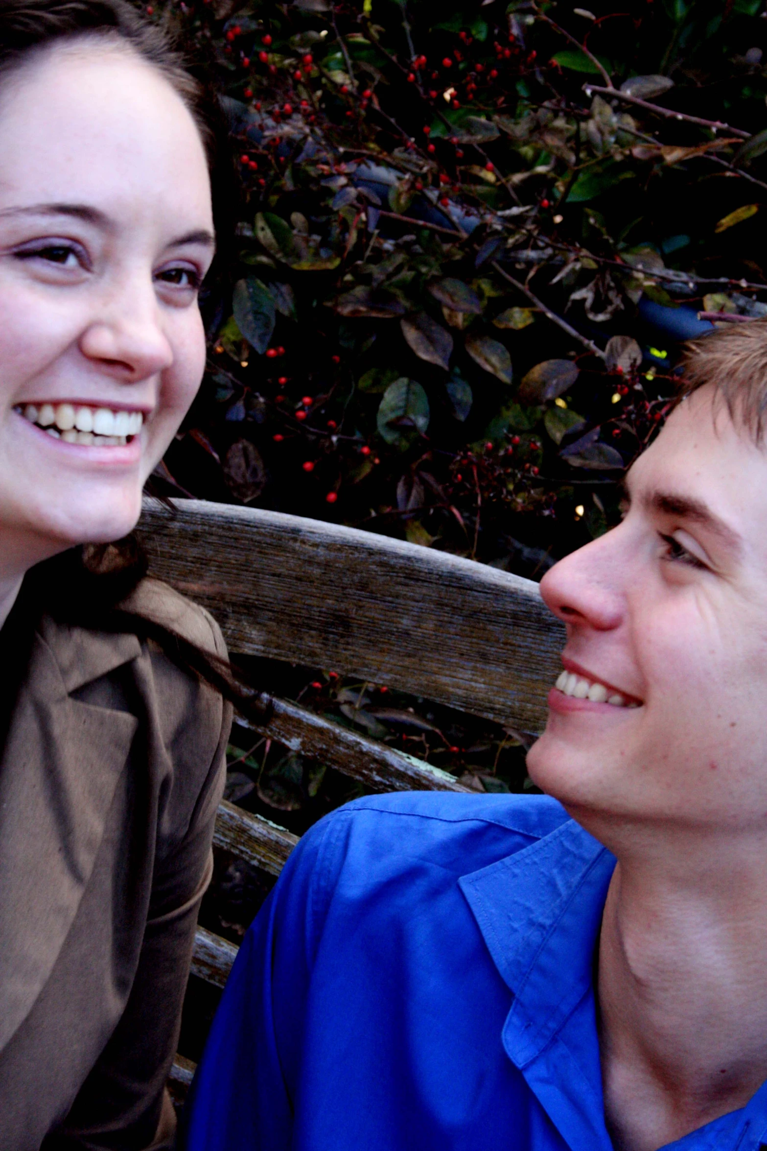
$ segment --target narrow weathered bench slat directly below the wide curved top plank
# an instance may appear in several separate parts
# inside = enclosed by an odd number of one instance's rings
[[[274,701],[268,724],[244,719],[238,723],[266,732],[291,750],[360,779],[374,791],[468,791],[448,771],[359,735],[289,700]]]

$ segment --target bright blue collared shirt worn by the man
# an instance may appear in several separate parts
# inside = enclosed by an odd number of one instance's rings
[[[612,1151],[593,967],[614,866],[542,795],[322,820],[240,948],[189,1151]],[[668,1148],[762,1139],[767,1085]]]

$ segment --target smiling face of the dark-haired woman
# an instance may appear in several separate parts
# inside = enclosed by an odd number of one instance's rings
[[[202,378],[213,257],[194,122],[103,41],[0,90],[0,558],[32,563],[138,519]]]

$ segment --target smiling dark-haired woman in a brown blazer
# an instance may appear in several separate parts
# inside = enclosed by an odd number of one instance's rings
[[[122,0],[0,0],[13,1151],[172,1141],[164,1081],[237,689],[214,620],[144,578],[128,533],[202,376],[221,138],[215,101]]]

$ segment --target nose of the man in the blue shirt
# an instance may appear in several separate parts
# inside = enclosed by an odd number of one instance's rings
[[[597,631],[620,626],[628,574],[622,544],[622,529],[616,527],[549,569],[540,581],[540,594],[563,623]]]

